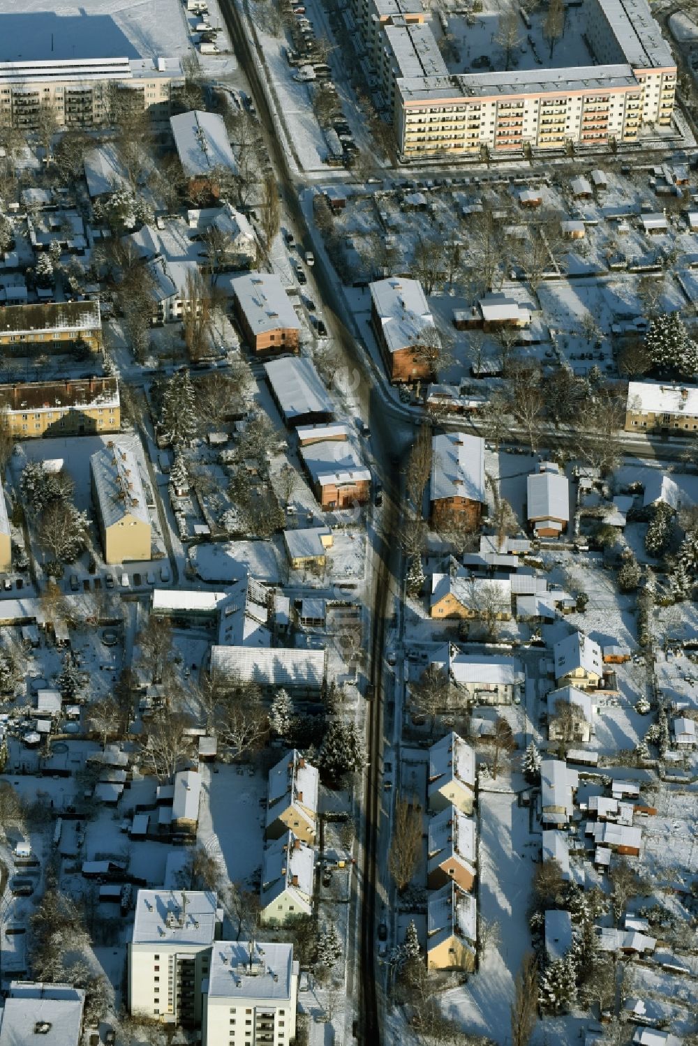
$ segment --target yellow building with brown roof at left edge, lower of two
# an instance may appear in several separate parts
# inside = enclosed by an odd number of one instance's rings
[[[121,424],[116,378],[2,385],[0,411],[15,439],[102,435]]]

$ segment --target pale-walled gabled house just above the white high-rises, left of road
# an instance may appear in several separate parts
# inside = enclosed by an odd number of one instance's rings
[[[262,857],[260,922],[283,926],[313,913],[315,850],[287,832],[270,842]]]

